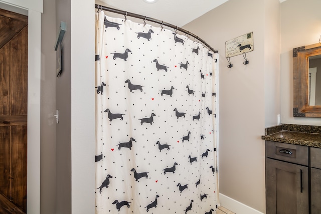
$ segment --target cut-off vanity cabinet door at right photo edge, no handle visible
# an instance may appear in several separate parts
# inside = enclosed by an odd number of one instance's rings
[[[311,168],[311,213],[321,213],[321,169]]]

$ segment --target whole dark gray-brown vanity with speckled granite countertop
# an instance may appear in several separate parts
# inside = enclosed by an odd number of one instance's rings
[[[265,128],[266,214],[321,213],[321,126]]]

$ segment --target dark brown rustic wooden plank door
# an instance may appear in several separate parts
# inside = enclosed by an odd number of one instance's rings
[[[27,210],[28,17],[0,9],[0,193]]]

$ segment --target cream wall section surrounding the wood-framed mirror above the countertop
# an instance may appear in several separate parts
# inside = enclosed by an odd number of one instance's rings
[[[293,117],[292,49],[318,43],[321,1],[287,0],[281,4],[281,122],[321,125],[321,118]]]

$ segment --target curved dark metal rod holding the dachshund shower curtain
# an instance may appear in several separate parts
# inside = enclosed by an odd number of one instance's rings
[[[218,53],[218,51],[215,51],[214,48],[212,48],[209,44],[207,44],[204,40],[202,40],[201,38],[199,38],[199,37],[196,36],[195,34],[192,34],[192,33],[190,33],[189,31],[186,31],[186,30],[184,30],[183,28],[180,28],[180,27],[178,27],[178,26],[172,25],[172,24],[170,24],[170,23],[163,22],[163,21],[161,21],[161,20],[153,19],[153,18],[150,18],[150,17],[145,17],[145,16],[138,15],[138,14],[129,13],[129,12],[127,12],[127,11],[121,11],[121,10],[114,9],[114,8],[108,8],[108,7],[105,7],[105,6],[102,6],[102,5],[98,5],[98,4],[95,4],[95,8],[98,9],[98,10],[101,9],[101,10],[103,10],[103,11],[109,11],[109,12],[116,13],[116,14],[121,14],[121,15],[124,15],[124,16],[130,16],[130,17],[134,17],[134,18],[146,20],[146,21],[149,21],[149,22],[157,23],[157,24],[162,25],[162,26],[167,26],[167,27],[173,28],[173,29],[175,29],[176,31],[181,31],[181,32],[183,32],[184,34],[187,34],[187,35],[189,35],[189,36],[194,37],[195,39],[197,39],[198,41],[200,41],[200,42],[202,42],[204,45],[206,45],[206,46],[207,46],[209,49],[211,49],[214,53]]]

